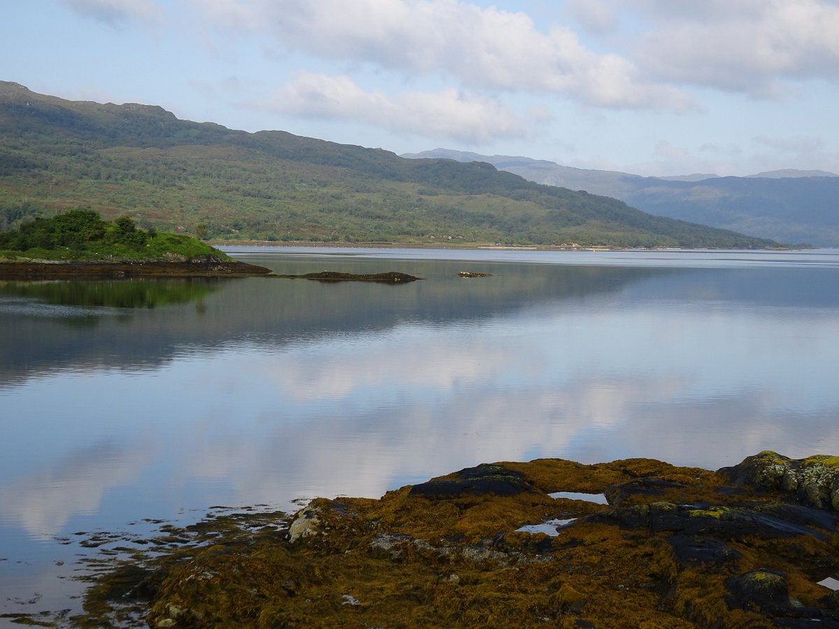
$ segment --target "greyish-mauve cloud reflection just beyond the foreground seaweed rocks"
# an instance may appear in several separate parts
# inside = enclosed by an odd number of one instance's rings
[[[191,454],[190,474],[229,474],[242,503],[285,503],[296,496],[380,496],[493,460],[558,456],[593,463],[649,456],[716,468],[764,448],[809,454],[818,440],[839,451],[839,429],[823,430],[834,409],[793,423],[780,415],[767,421],[759,392],[710,407],[654,402],[672,398],[677,384],[658,376],[592,378],[559,389],[464,389],[445,402],[333,411],[301,424],[277,417],[262,439],[237,440],[231,433],[230,440],[204,442]]]

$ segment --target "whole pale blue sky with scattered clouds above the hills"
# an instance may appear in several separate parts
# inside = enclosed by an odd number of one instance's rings
[[[0,80],[418,153],[839,174],[839,0],[26,0]]]

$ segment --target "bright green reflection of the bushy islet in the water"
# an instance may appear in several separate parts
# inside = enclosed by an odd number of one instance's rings
[[[3,282],[0,297],[42,299],[63,306],[157,308],[186,304],[218,289],[217,281],[202,279],[122,279],[78,282]]]

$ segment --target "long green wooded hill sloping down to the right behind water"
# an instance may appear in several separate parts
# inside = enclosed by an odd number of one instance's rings
[[[0,230],[85,205],[221,241],[767,247],[490,164],[246,133],[0,82]]]

